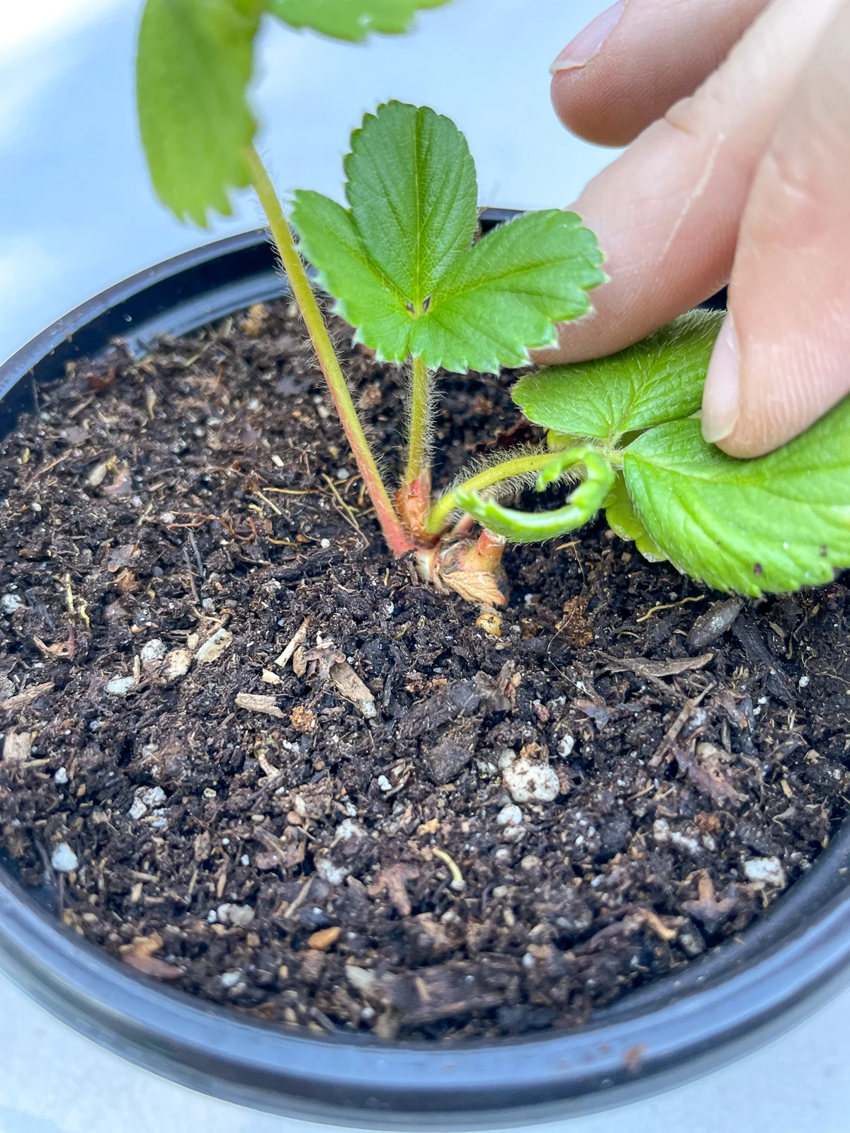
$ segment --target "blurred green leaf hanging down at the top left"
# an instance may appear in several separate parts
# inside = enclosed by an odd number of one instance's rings
[[[228,215],[249,182],[256,122],[245,91],[265,0],[147,0],[136,63],[142,143],[156,194],[180,220]]]

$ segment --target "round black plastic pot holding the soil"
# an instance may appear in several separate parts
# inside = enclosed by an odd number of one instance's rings
[[[498,222],[503,214],[491,213]],[[131,348],[284,290],[263,233],[221,240],[110,288],[0,368],[0,435],[35,386],[116,335]],[[586,1026],[436,1047],[248,1022],[136,976],[67,931],[0,867],[0,968],[59,1019],[135,1063],[243,1105],[366,1128],[517,1126],[679,1084],[776,1034],[850,977],[850,826],[753,926]]]

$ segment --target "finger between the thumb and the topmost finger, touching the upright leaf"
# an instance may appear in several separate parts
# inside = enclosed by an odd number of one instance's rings
[[[572,207],[596,232],[610,282],[536,363],[612,353],[723,287],[758,162],[838,7],[773,0],[692,97],[589,182]]]

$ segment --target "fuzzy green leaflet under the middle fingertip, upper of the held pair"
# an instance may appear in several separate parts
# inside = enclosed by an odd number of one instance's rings
[[[511,397],[537,425],[614,443],[699,409],[721,312],[692,310],[627,350],[521,377]]]

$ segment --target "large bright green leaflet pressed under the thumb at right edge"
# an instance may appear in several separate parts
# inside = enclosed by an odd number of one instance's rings
[[[649,429],[623,454],[626,486],[671,562],[722,590],[828,582],[850,565],[850,399],[796,441],[736,460],[696,420]]]

